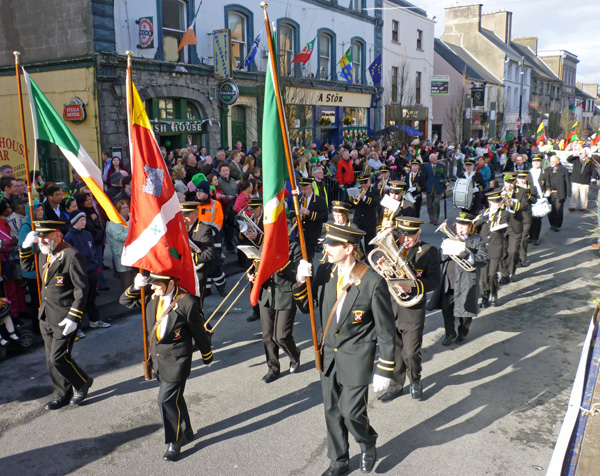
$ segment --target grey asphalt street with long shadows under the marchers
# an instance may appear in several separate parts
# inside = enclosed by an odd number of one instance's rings
[[[545,473],[597,297],[598,252],[587,237],[595,219],[565,211],[559,233],[544,219],[531,266],[500,288],[500,306],[474,319],[462,346],[443,347],[441,313],[427,315],[423,400],[406,395],[408,386],[387,404],[369,396],[379,434],[375,473]],[[424,241],[441,243],[435,226],[423,228]],[[229,278],[228,289],[238,278]],[[206,315],[219,300],[206,299]],[[320,475],[329,460],[309,318],[298,315],[294,331],[299,373],[287,372],[284,356],[281,378],[267,385],[260,323],[246,321],[250,312],[246,291],[214,334],[212,365],[195,355],[185,391],[195,440],[176,463],[162,460],[158,386],[142,376],[139,314],[75,344],[74,358],[94,377],[79,407],[44,410],[51,387],[42,347],[0,362],[0,473]],[[354,441],[350,452],[351,474],[359,474]]]

